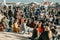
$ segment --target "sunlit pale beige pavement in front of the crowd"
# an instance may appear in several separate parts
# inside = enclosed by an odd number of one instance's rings
[[[22,34],[0,32],[0,40],[29,40],[29,39],[27,37],[24,37]]]

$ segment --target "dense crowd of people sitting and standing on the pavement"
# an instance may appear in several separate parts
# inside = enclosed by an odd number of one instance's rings
[[[58,24],[56,10],[45,10],[44,7],[4,6],[0,9],[0,31],[22,34],[32,33],[31,40],[58,40],[56,26]],[[33,30],[31,30],[33,29]]]

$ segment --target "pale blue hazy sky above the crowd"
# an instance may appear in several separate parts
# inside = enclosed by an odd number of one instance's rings
[[[6,0],[7,2],[22,2],[22,3],[30,3],[30,2],[42,2],[43,0]],[[60,2],[60,0],[46,0],[52,2]],[[0,0],[2,2],[2,0]]]

